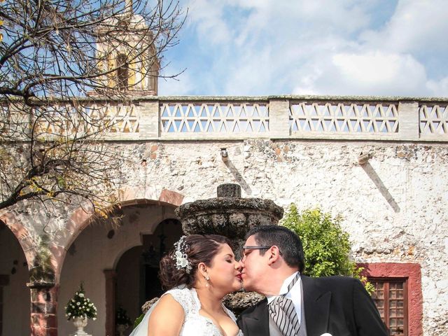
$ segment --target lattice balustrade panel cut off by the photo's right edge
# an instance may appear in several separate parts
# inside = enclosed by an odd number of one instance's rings
[[[448,134],[448,106],[421,105],[420,134]]]

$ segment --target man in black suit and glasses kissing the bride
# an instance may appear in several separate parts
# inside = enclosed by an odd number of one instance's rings
[[[310,278],[304,269],[302,242],[276,225],[253,228],[243,247],[244,289],[267,300],[238,318],[244,336],[386,336],[386,327],[370,295],[357,279]]]

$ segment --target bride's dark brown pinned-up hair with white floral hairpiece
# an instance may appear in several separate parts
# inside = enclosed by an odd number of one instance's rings
[[[162,287],[169,290],[176,286],[185,284],[188,288],[192,288],[196,280],[197,265],[204,262],[205,265],[211,266],[211,260],[218,253],[221,244],[231,246],[228,238],[220,235],[190,235],[185,239],[187,260],[190,262],[192,269],[187,272],[187,268],[176,268],[176,248],[173,248],[162,260],[160,260],[160,281]]]

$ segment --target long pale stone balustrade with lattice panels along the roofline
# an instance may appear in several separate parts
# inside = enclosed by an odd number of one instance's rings
[[[142,97],[133,99],[131,104],[113,100],[102,104],[87,98],[78,102],[76,108],[70,102],[58,102],[47,107],[45,113],[36,109],[26,118],[18,118],[21,111],[16,105],[0,103],[1,130],[16,134],[17,128],[8,127],[8,120],[21,120],[21,125],[38,120],[38,131],[50,135],[92,131],[95,123],[89,129],[90,120],[100,120],[108,125],[102,135],[108,140],[267,138],[448,142],[448,98]]]

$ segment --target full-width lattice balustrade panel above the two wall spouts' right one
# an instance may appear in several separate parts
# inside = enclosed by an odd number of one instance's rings
[[[332,104],[299,102],[290,105],[290,131],[343,134],[398,133],[395,104]]]

